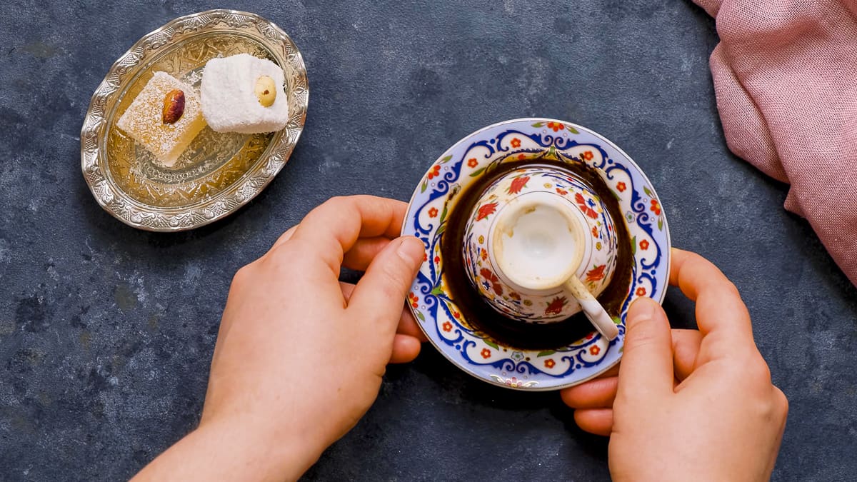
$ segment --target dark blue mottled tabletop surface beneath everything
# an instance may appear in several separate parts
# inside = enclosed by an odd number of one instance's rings
[[[291,162],[229,219],[135,231],[80,172],[81,123],[141,35],[214,7],[290,33],[311,86]],[[231,275],[329,196],[407,200],[470,131],[514,117],[583,124],[662,196],[674,244],[740,288],[791,412],[774,479],[857,473],[857,290],[786,186],[728,153],[688,2],[103,2],[0,7],[0,479],[123,479],[195,425]],[[692,319],[677,291],[666,306]],[[606,441],[556,394],[480,383],[430,346],[307,479],[608,479]],[[313,383],[308,377],[306,383]],[[735,396],[740,396],[736,393]],[[724,463],[728,463],[724,461]]]

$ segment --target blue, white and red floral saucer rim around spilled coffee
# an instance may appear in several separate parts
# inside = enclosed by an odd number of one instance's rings
[[[446,220],[456,208],[457,193],[500,163],[557,154],[600,170],[617,196],[632,243],[632,280],[615,340],[592,331],[567,346],[518,350],[470,328],[447,288],[440,242]],[[414,191],[402,234],[416,236],[426,248],[426,261],[411,286],[408,304],[428,340],[470,375],[512,389],[562,389],[607,371],[621,358],[625,316],[632,300],[647,296],[662,302],[668,285],[669,231],[649,179],[608,139],[554,119],[523,118],[490,125],[447,149]]]

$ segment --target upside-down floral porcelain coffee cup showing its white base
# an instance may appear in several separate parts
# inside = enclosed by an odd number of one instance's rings
[[[530,323],[580,312],[577,288],[594,302],[618,254],[601,198],[572,172],[550,166],[521,167],[490,184],[467,221],[463,250],[470,282],[488,304]]]

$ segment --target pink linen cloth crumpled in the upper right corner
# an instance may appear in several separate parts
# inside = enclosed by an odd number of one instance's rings
[[[728,148],[791,184],[857,286],[857,0],[694,0],[716,17],[710,57]]]

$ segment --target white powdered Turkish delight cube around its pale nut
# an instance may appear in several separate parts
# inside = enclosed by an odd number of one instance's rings
[[[277,87],[273,105],[264,107],[254,87],[262,75]],[[283,90],[285,75],[270,60],[240,53],[206,63],[200,87],[202,114],[217,132],[257,134],[282,130],[289,121],[289,102]]]

